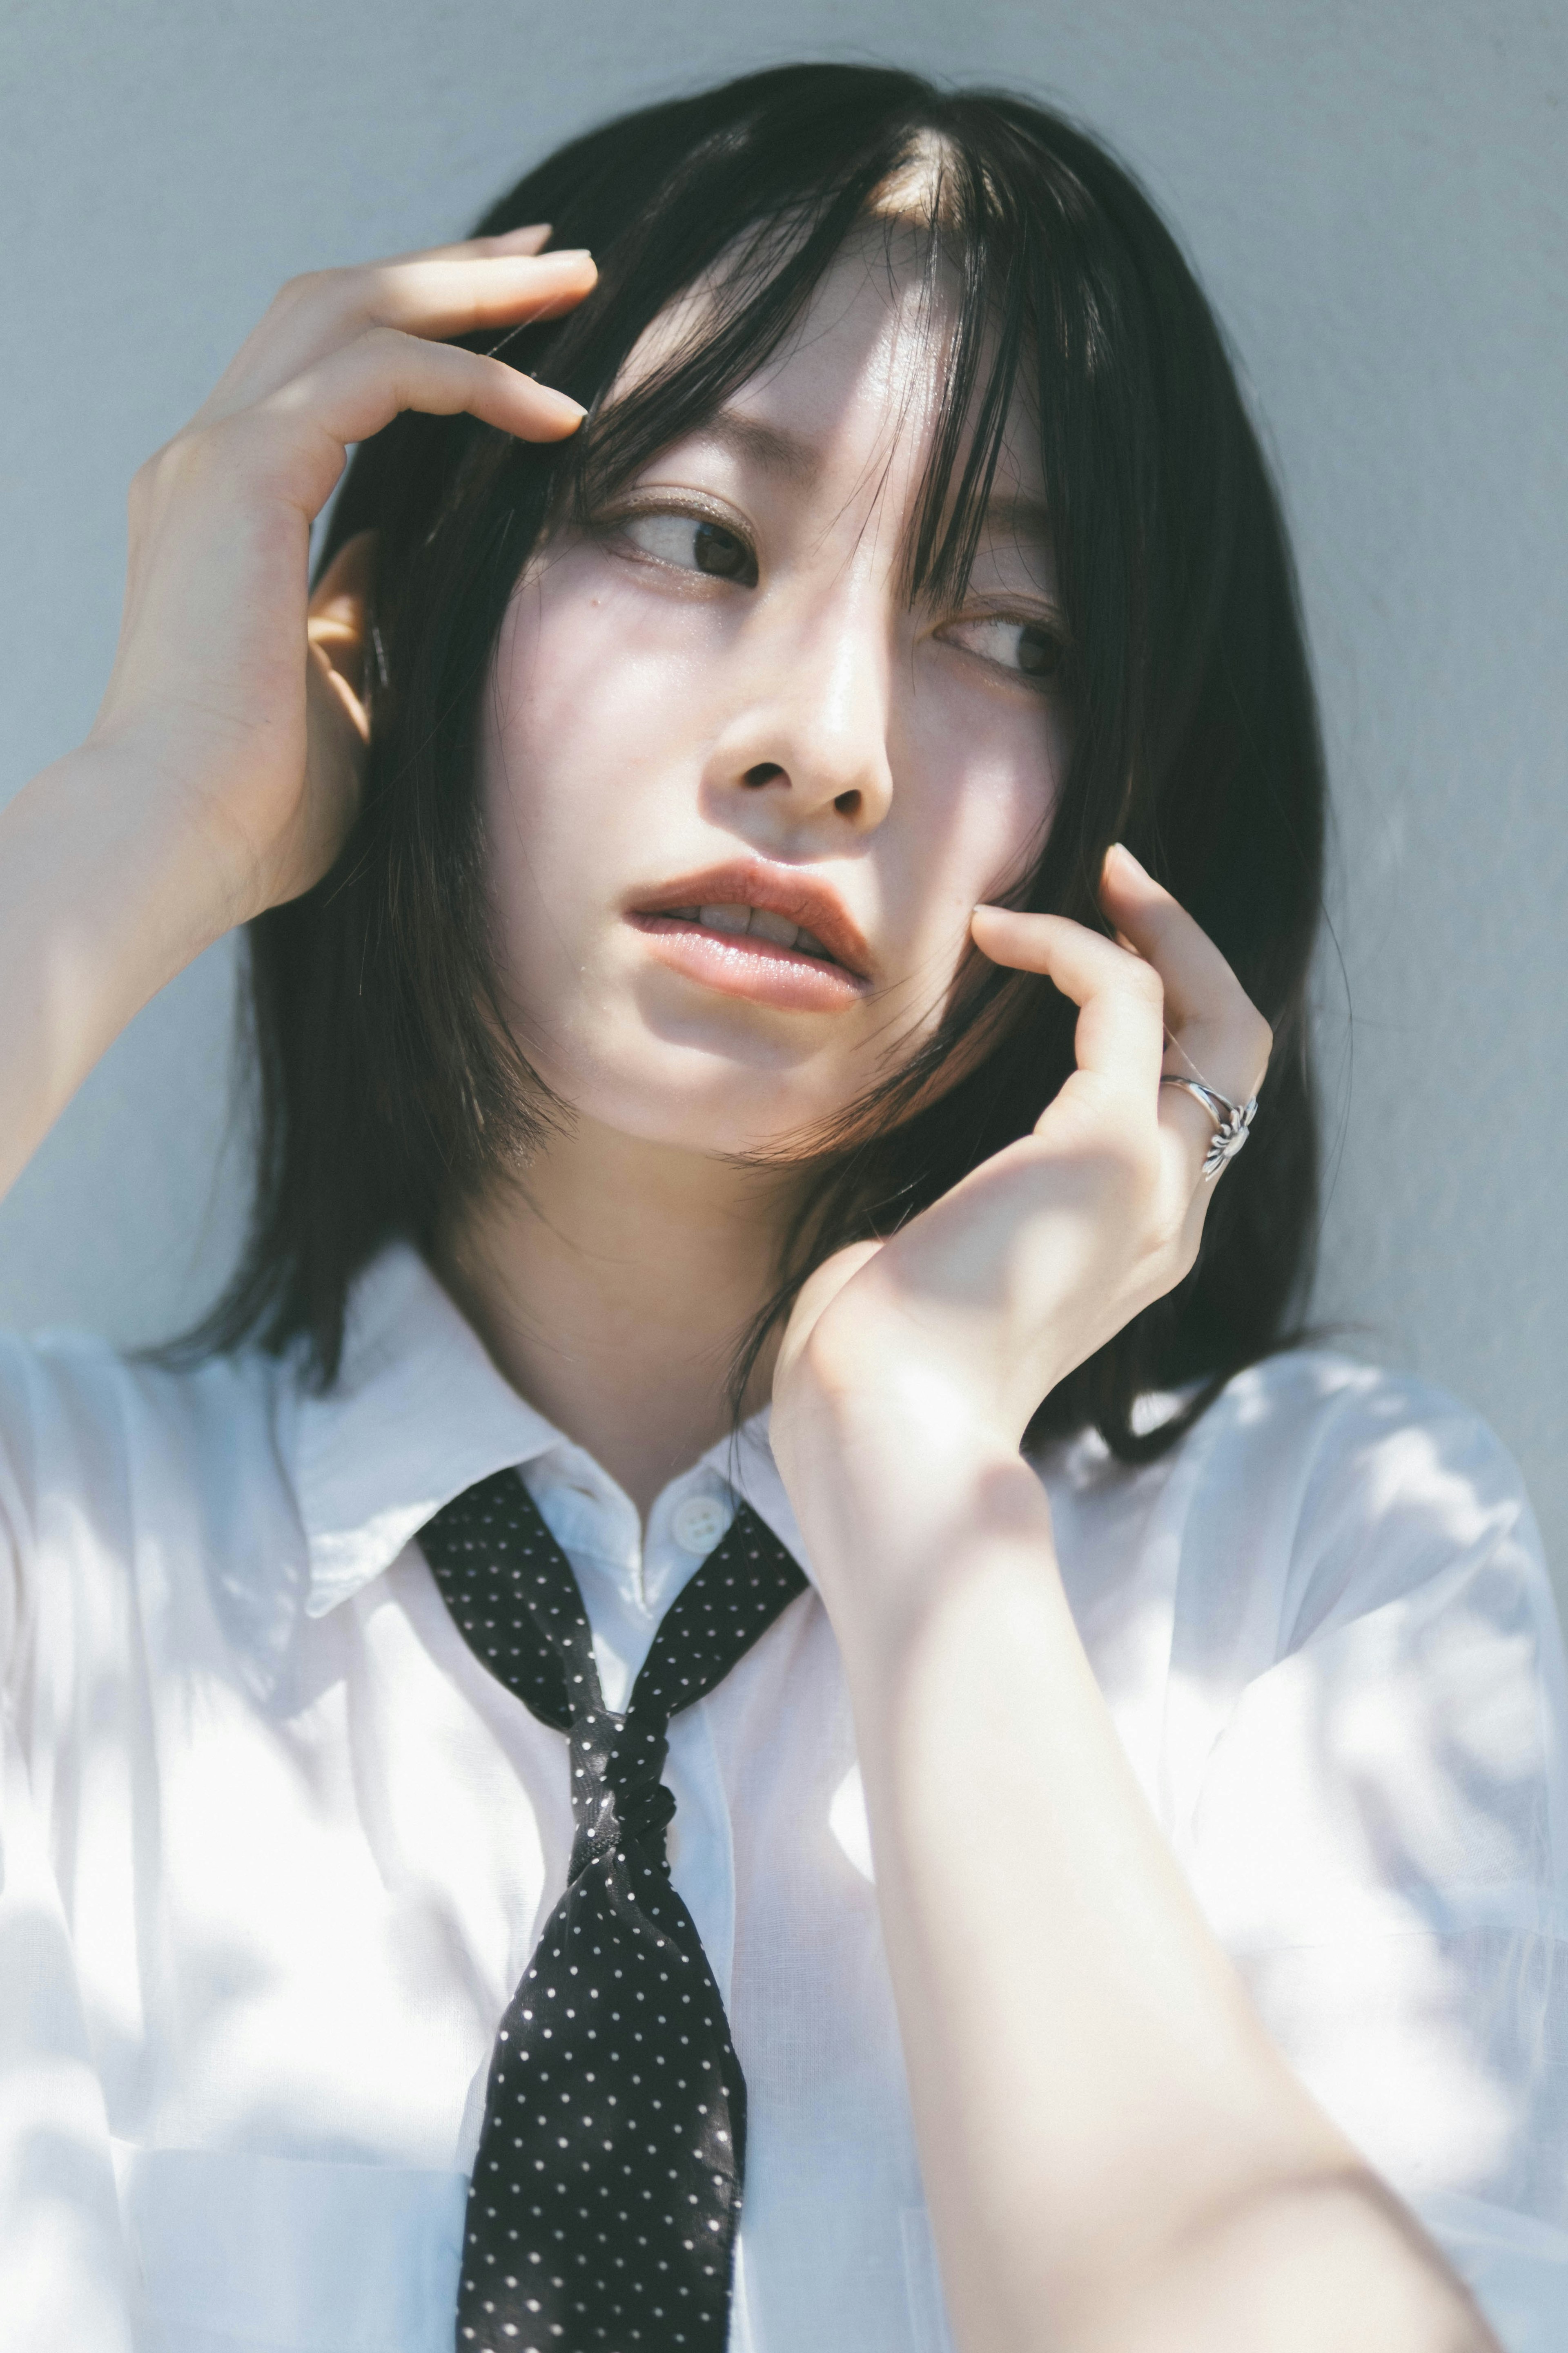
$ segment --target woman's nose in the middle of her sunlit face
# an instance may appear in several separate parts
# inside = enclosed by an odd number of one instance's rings
[[[748,647],[741,708],[710,762],[719,791],[766,795],[776,819],[867,833],[893,800],[891,631],[884,600],[818,600]]]

